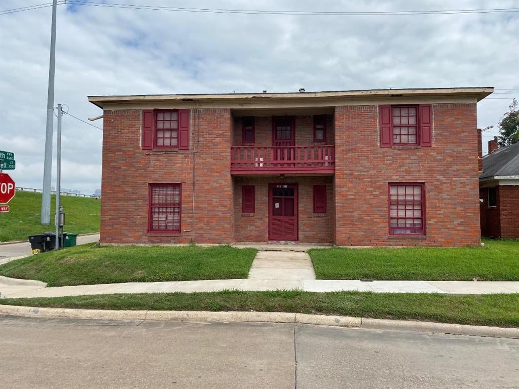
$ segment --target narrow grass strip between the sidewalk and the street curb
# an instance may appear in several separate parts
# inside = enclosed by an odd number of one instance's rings
[[[519,294],[457,296],[371,292],[311,293],[292,290],[222,291],[2,299],[0,304],[115,310],[298,312],[519,327]]]

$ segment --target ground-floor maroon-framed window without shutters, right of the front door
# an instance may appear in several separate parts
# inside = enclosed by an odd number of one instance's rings
[[[425,185],[389,184],[389,233],[425,235]]]

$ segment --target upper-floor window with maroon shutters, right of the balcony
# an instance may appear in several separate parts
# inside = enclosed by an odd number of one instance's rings
[[[432,144],[430,104],[380,105],[380,146],[422,146]]]

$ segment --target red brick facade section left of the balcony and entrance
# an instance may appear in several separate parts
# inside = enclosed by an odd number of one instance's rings
[[[230,110],[190,114],[190,149],[162,154],[141,150],[140,110],[104,111],[101,243],[233,241]],[[194,158],[195,228],[181,234],[147,233],[148,183],[182,184],[182,230],[192,229]]]

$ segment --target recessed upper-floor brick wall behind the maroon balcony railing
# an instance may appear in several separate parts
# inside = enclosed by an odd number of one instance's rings
[[[326,124],[326,143],[313,142],[313,116],[296,116],[295,117],[295,144],[296,146],[308,145],[324,145],[334,143],[334,123],[330,116]],[[233,128],[233,146],[242,146],[242,118],[234,118]],[[247,146],[268,147],[272,146],[272,117],[256,116],[254,118],[254,144],[246,144]]]

